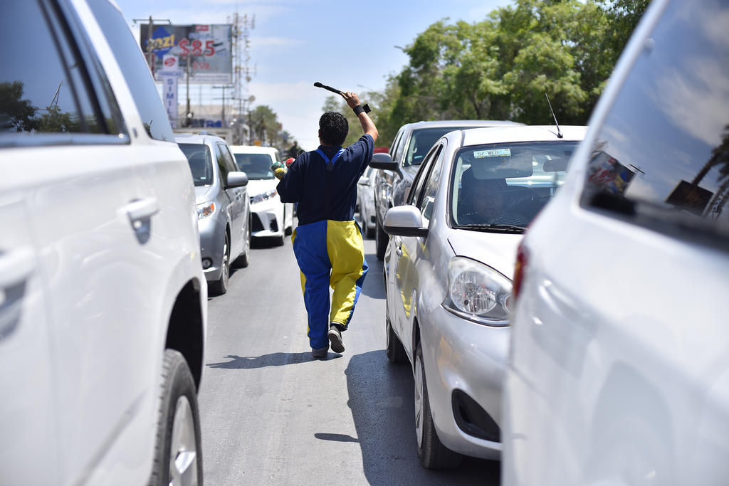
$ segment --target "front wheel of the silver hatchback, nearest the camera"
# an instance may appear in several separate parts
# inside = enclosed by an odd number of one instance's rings
[[[415,422],[418,439],[418,458],[427,469],[448,469],[458,466],[463,456],[440,443],[435,431],[428,400],[428,385],[423,365],[423,350],[415,350]]]

